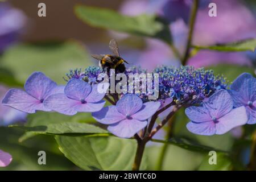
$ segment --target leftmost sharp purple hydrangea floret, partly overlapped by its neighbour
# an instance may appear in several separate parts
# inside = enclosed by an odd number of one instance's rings
[[[36,110],[51,111],[44,106],[47,97],[55,93],[63,93],[64,86],[58,86],[41,72],[34,72],[28,77],[25,91],[10,89],[2,100],[2,104],[26,113],[35,113]]]

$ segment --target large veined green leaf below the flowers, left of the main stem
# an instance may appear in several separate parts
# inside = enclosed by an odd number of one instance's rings
[[[85,170],[131,170],[137,147],[135,140],[117,137],[55,138],[60,151]]]

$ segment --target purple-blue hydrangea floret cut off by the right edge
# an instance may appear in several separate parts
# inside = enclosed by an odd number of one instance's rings
[[[256,78],[243,73],[234,80],[229,93],[233,97],[234,107],[245,106],[248,124],[256,123]]]

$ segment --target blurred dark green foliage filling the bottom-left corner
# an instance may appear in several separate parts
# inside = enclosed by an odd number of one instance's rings
[[[0,148],[13,156],[9,166],[1,170],[72,170],[73,165],[58,150],[55,139],[50,135],[40,135],[20,144],[21,130],[0,127]],[[46,165],[38,164],[38,152],[46,151]]]

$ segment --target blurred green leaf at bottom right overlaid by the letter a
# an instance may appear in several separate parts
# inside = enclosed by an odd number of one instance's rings
[[[213,158],[213,155],[205,156],[205,159],[201,163],[200,171],[226,171],[232,169],[232,160],[228,155],[217,152],[216,164],[209,164],[209,159]]]

